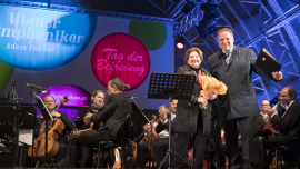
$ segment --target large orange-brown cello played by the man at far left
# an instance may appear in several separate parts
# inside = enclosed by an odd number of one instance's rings
[[[61,100],[60,103],[57,106],[54,111],[57,111],[60,106],[64,102],[68,102],[69,98],[64,96],[64,100]],[[58,137],[64,129],[64,123],[61,121],[60,118],[56,118],[51,126],[46,129],[46,121],[41,126],[41,130],[39,137],[33,142],[33,161],[44,162],[46,156],[46,130],[48,130],[48,146],[47,146],[47,161],[51,160],[58,152],[59,149],[59,141]],[[32,158],[32,147],[28,150],[28,156]]]

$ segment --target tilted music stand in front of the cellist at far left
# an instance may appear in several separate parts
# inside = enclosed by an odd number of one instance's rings
[[[47,163],[48,162],[48,157],[47,157],[47,151],[48,151],[48,128],[49,128],[48,122],[50,121],[52,123],[53,118],[52,118],[51,113],[48,111],[48,109],[47,109],[46,105],[43,103],[42,99],[39,96],[37,96],[36,93],[34,93],[34,96],[36,96],[36,99],[38,101],[37,106],[38,106],[38,108],[40,108],[40,110],[42,112],[42,116],[43,116],[43,119],[46,121],[46,126],[44,126],[44,128],[46,128],[46,138],[44,138],[46,141],[44,141],[44,163],[43,163],[43,166],[48,167],[48,163]],[[34,145],[32,145],[32,151],[34,150],[33,146]]]

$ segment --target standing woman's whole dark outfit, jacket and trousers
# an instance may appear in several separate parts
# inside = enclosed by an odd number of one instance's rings
[[[203,158],[206,151],[206,135],[211,135],[211,115],[216,111],[214,101],[208,101],[208,109],[200,109],[198,103],[201,86],[199,83],[199,73],[210,74],[206,69],[199,67],[194,69],[191,66],[183,66],[178,69],[179,74],[194,74],[197,79],[194,82],[191,100],[178,101],[178,113],[174,126],[174,131],[178,132],[174,152],[181,158],[186,159],[188,153],[188,146],[190,136],[193,133],[194,140],[194,167],[203,167]],[[216,112],[217,113],[217,112]],[[182,168],[183,162],[174,157],[172,167]]]

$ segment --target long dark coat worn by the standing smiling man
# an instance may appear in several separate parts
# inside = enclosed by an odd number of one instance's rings
[[[256,66],[256,61],[253,50],[237,46],[233,47],[228,66],[221,50],[208,59],[210,73],[228,87],[226,95],[218,96],[220,119],[229,120],[259,113],[251,73],[256,72],[268,79],[269,77]]]

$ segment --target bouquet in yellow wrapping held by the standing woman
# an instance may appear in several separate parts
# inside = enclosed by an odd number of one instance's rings
[[[227,92],[227,86],[217,80],[216,78],[202,74],[201,76],[202,90],[200,95],[206,98],[206,92],[216,92],[217,95],[224,95]],[[207,109],[208,105],[199,105],[201,109]]]

